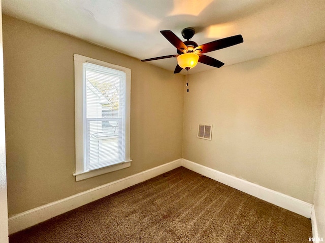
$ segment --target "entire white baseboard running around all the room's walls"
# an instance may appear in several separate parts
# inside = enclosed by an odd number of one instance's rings
[[[311,218],[313,237],[317,237],[315,213],[311,204],[181,158],[171,161],[170,163],[140,172],[138,174],[128,176],[126,178],[78,193],[76,195],[54,201],[53,203],[28,210],[21,214],[14,215],[9,218],[9,234],[26,229],[45,220],[51,219],[57,215],[91,203],[94,200],[98,200],[127,187],[136,185],[155,176],[176,169],[180,166],[221,182],[225,185],[236,188],[257,198],[268,201],[271,204],[302,215],[306,218]]]

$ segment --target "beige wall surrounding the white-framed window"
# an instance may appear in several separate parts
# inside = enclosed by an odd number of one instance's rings
[[[3,32],[9,216],[181,158],[181,75],[8,16]],[[80,182],[74,53],[132,70],[132,165]]]

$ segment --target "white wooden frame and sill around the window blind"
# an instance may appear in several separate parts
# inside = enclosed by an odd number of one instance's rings
[[[83,63],[92,63],[125,72],[125,161],[98,169],[86,170],[86,123],[85,123],[85,83]],[[75,143],[76,143],[76,171],[73,174],[76,181],[121,170],[131,166],[131,69],[96,60],[90,57],[74,54],[75,66]],[[86,89],[86,88],[85,88]]]

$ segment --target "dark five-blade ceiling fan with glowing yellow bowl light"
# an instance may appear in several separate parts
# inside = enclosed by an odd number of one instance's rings
[[[195,33],[194,28],[185,28],[182,30],[182,36],[186,39],[185,42],[182,42],[180,38],[177,37],[171,30],[160,30],[160,33],[165,36],[165,38],[177,48],[177,54],[154,57],[149,59],[141,60],[142,62],[153,61],[158,59],[165,59],[176,57],[177,58],[177,66],[175,68],[174,73],[179,73],[183,68],[189,70],[197,65],[198,62],[213,66],[213,67],[221,67],[224,65],[223,62],[220,62],[217,59],[212,57],[203,55],[203,53],[216,51],[222,48],[231,47],[240,43],[243,43],[243,36],[241,34],[226,37],[223,39],[217,39],[216,41],[209,42],[198,46],[193,41],[189,41]]]

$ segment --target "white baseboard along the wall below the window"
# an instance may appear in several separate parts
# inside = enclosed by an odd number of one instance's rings
[[[9,218],[9,234],[26,229],[45,220],[76,209],[80,206],[91,203],[102,197],[123,190],[127,187],[136,185],[143,181],[149,180],[155,176],[161,175],[181,166],[181,159],[171,161],[170,163],[128,176],[126,178],[78,193],[67,198],[63,198],[53,203],[25,211],[21,214]]]

